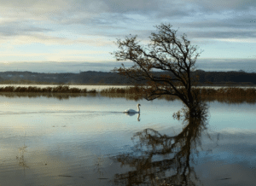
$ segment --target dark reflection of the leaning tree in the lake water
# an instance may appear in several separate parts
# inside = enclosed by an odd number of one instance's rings
[[[116,185],[202,185],[196,176],[192,154],[198,154],[196,147],[201,146],[201,132],[207,129],[208,108],[201,102],[197,116],[192,118],[188,110],[183,116],[183,131],[173,137],[160,134],[154,129],[145,129],[132,137],[136,142],[131,153],[119,154],[114,160],[121,166],[130,166],[133,171],[116,174]],[[208,135],[209,137],[209,135]],[[211,137],[210,137],[211,138]]]

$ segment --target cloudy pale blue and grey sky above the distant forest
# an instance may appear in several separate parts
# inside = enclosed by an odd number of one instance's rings
[[[255,0],[0,0],[0,71],[119,67],[117,38],[170,23],[203,49],[198,68],[256,72]]]

